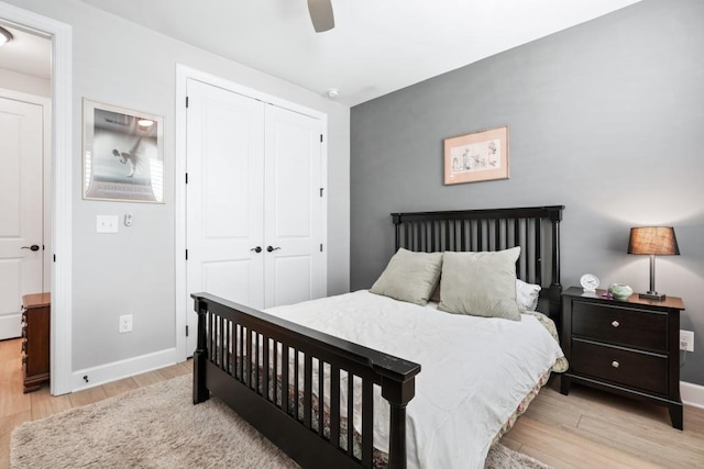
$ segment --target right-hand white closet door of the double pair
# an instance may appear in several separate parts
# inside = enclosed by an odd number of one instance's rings
[[[324,186],[319,120],[267,105],[265,129],[264,272],[265,305],[271,308],[327,293]]]

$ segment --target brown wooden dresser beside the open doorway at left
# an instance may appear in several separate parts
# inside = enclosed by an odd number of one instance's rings
[[[22,369],[24,392],[50,380],[51,293],[22,297]]]

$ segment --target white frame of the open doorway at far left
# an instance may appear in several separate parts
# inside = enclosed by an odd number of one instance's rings
[[[0,2],[0,19],[52,40],[52,331],[51,392],[70,392],[72,373],[72,27],[29,10]]]

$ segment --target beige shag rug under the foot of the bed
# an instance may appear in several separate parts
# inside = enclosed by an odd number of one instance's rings
[[[186,375],[14,429],[10,467],[297,468],[219,399],[193,405]],[[546,469],[498,445],[486,468]]]

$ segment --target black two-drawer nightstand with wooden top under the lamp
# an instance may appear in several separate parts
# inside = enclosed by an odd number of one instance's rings
[[[626,301],[565,290],[562,302],[562,349],[570,369],[560,392],[572,382],[641,401],[667,405],[672,426],[682,429],[680,399],[680,312],[682,299]]]

